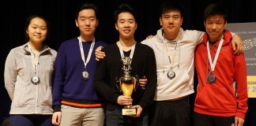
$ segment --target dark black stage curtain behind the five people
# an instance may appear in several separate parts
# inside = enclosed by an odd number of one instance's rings
[[[107,43],[115,43],[118,32],[115,30],[113,12],[122,2],[128,2],[137,10],[138,28],[135,33],[137,42],[145,39],[147,35],[155,35],[160,28],[158,7],[164,0],[93,0],[100,9],[100,24],[96,30],[96,39]],[[13,47],[24,44],[24,23],[28,16],[39,14],[46,17],[51,24],[51,37],[47,44],[58,50],[62,41],[79,35],[74,19],[77,4],[86,2],[82,0],[2,0],[0,3],[2,34],[1,60],[0,60],[0,123],[3,117],[9,117],[10,100],[4,87],[4,65],[6,56]],[[228,8],[228,23],[256,22],[256,1],[254,0],[180,0],[183,3],[185,14],[184,29],[204,31],[202,13],[209,3],[222,2]],[[197,78],[195,77],[195,83]],[[196,87],[196,85],[195,85]],[[195,94],[194,94],[195,95]],[[193,107],[194,95],[191,95]],[[249,109],[245,121],[246,126],[256,125],[256,99],[249,98]]]

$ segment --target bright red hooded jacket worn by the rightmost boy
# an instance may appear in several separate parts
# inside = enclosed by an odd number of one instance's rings
[[[210,65],[207,54],[208,35],[203,36],[204,43],[197,46],[195,65],[198,72],[198,93],[194,102],[194,112],[218,117],[245,118],[247,113],[247,68],[244,54],[235,55],[232,49],[232,34],[224,31],[224,43],[213,75],[215,83],[208,83]],[[209,44],[212,58],[216,55],[220,41]],[[208,64],[208,65],[207,65]],[[208,68],[207,68],[208,67]],[[208,73],[207,73],[208,72]],[[235,82],[235,86],[233,86]]]

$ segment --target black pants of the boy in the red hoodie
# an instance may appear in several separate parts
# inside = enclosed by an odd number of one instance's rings
[[[235,117],[216,117],[201,113],[194,113],[194,126],[232,126]]]

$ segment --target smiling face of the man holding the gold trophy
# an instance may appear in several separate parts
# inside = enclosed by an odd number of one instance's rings
[[[115,28],[119,31],[120,38],[133,39],[137,23],[131,13],[119,13]]]

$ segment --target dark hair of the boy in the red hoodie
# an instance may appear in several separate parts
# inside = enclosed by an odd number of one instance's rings
[[[204,21],[206,18],[211,16],[220,15],[224,17],[224,20],[228,20],[228,9],[226,9],[222,4],[220,3],[212,3],[209,6],[205,8],[204,11]]]

